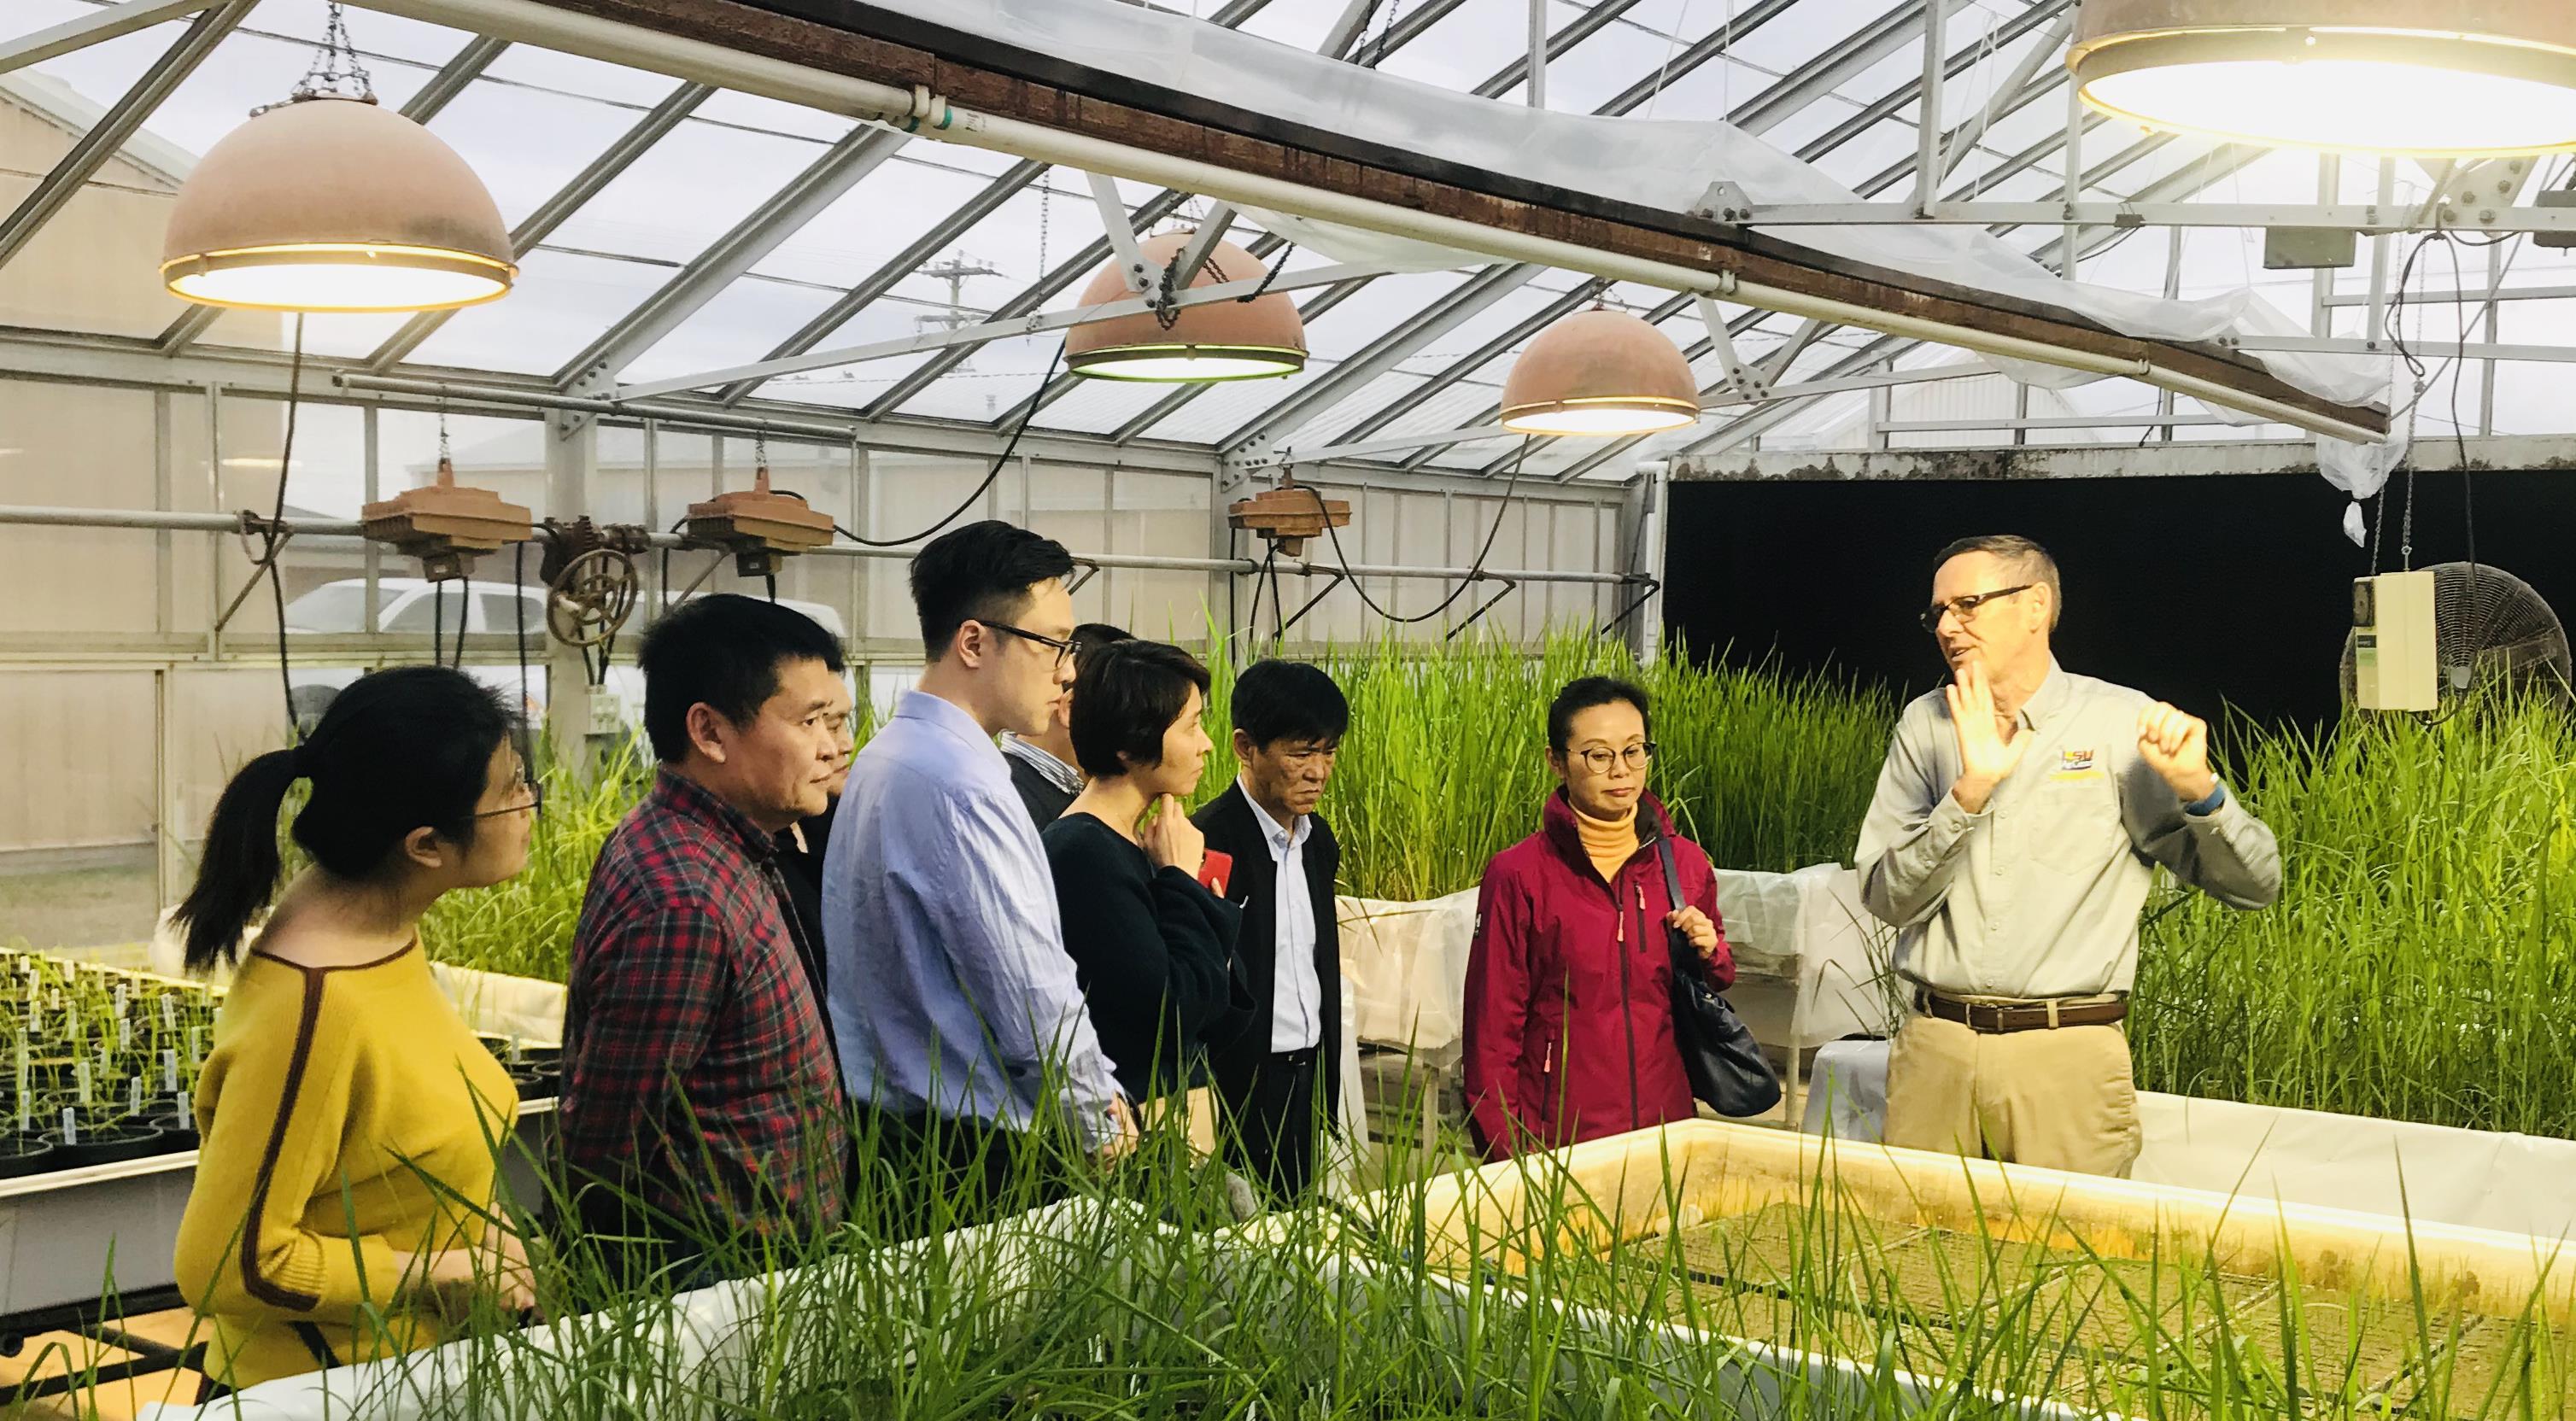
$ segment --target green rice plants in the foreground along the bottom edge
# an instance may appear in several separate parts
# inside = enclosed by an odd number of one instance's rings
[[[706,1243],[742,1282],[685,1300],[538,1249],[546,1331],[479,1318],[335,1390],[430,1421],[819,1418],[1834,1418],[2566,1421],[2543,1297],[2460,1310],[2228,1274],[2154,1233],[2133,1256],[2053,1218],[1927,1231],[1832,1176],[1736,1218],[1618,1218],[1561,1156],[1515,1161],[1499,1228],[1445,1231],[1401,1182],[1239,1223],[1177,1135],[1092,1166],[1025,1151],[999,1194],[899,1174],[855,1122],[850,1223]],[[894,1169],[889,1169],[894,1166]],[[1695,1166],[1698,1169],[1698,1166]],[[1489,1179],[1458,1182],[1468,1194]],[[1636,1197],[1631,1194],[1631,1205]],[[528,1205],[513,1200],[510,1207]],[[1473,1210],[1468,1218],[1476,1218]],[[1935,1238],[1937,1236],[1937,1238]],[[2362,1308],[2403,1326],[2357,1328]],[[690,1318],[680,1326],[683,1313]],[[2481,1346],[2494,1339],[2496,1346]]]

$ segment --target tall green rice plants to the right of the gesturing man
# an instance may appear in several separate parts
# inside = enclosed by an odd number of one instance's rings
[[[2576,723],[2548,700],[2259,739],[2280,904],[2164,893],[2148,1089],[2576,1135]]]

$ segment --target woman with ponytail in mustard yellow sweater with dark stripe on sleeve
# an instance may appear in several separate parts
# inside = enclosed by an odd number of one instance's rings
[[[196,1089],[204,1135],[178,1285],[214,1323],[209,1390],[443,1341],[484,1297],[533,1303],[518,1238],[487,1223],[518,1115],[507,1071],[420,952],[420,914],[528,860],[536,788],[500,698],[397,667],[343,690],[299,749],[224,785],[178,909],[188,968],[240,955]],[[278,813],[312,795],[312,855],[278,893]]]

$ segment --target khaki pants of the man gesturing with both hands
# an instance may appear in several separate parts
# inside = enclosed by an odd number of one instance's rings
[[[2128,1032],[1976,1032],[1909,1017],[1888,1055],[1886,1140],[2125,1179],[2138,1161]]]

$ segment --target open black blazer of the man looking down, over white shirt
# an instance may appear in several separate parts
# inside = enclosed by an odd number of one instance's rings
[[[1342,1104],[1342,924],[1332,909],[1332,883],[1342,870],[1342,844],[1321,813],[1306,834],[1306,893],[1314,904],[1314,976],[1321,991],[1324,1058],[1324,1117],[1337,1120]],[[1208,847],[1234,855],[1234,880],[1226,898],[1244,909],[1244,927],[1234,940],[1234,960],[1242,965],[1244,986],[1252,991],[1252,1009],[1231,1040],[1208,1043],[1208,1068],[1216,1089],[1226,1099],[1244,1099],[1252,1091],[1252,1073],[1270,1055],[1270,1007],[1278,994],[1278,865],[1270,862],[1270,839],[1262,834],[1260,811],[1244,798],[1244,785],[1234,783],[1198,813],[1190,816]]]

